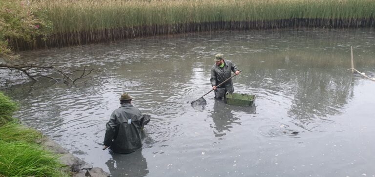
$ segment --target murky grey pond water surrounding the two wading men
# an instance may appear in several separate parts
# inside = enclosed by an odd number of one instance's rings
[[[28,63],[105,69],[105,80],[67,87],[13,86],[17,117],[112,176],[375,176],[375,32],[232,31],[22,53]],[[243,70],[236,93],[253,107],[205,96],[213,56]],[[152,120],[144,147],[128,155],[102,151],[105,123],[123,92]]]

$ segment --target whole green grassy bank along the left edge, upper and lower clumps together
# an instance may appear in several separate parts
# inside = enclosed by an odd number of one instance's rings
[[[17,103],[0,92],[0,177],[68,177],[57,155],[37,142],[42,134],[12,118]]]

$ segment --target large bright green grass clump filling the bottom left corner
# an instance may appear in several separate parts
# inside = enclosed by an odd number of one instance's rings
[[[0,140],[0,176],[67,177],[58,157],[26,142]]]

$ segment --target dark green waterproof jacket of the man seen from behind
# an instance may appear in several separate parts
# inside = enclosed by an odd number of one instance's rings
[[[131,153],[142,147],[143,115],[138,108],[124,103],[113,111],[106,126],[104,145],[116,153]]]

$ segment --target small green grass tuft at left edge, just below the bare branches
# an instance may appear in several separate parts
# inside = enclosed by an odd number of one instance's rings
[[[17,109],[18,104],[0,92],[0,126],[12,121],[13,112]]]

